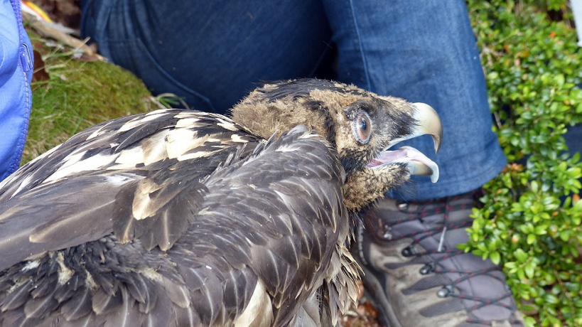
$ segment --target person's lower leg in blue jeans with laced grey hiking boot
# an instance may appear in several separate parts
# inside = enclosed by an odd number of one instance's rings
[[[338,79],[434,107],[443,122],[441,178],[417,179],[406,203],[364,218],[357,259],[389,326],[522,326],[502,272],[464,254],[480,188],[505,165],[465,3],[324,0],[338,45]],[[429,138],[408,142],[430,154]],[[469,192],[469,193],[468,193]],[[436,200],[430,200],[435,199]],[[502,322],[503,321],[503,322]]]

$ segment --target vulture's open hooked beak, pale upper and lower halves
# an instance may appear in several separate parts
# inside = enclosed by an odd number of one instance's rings
[[[416,126],[414,132],[400,139],[394,139],[390,142],[389,147],[406,139],[412,139],[417,136],[429,134],[434,141],[434,150],[438,152],[441,148],[441,140],[443,139],[443,126],[441,119],[438,117],[436,111],[424,103],[415,103],[414,105],[414,119],[416,119]],[[384,150],[370,161],[368,168],[375,166],[382,166],[389,163],[404,163],[409,169],[411,175],[430,175],[431,181],[436,183],[438,181],[438,166],[431,159],[427,158],[421,151],[414,149],[411,146],[402,146],[402,148],[395,151]]]

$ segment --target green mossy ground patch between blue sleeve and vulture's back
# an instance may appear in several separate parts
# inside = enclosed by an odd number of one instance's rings
[[[98,122],[152,109],[139,78],[112,63],[80,61],[28,31],[48,80],[33,82],[33,105],[22,164]]]

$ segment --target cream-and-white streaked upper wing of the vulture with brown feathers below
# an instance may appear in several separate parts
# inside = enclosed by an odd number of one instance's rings
[[[167,250],[200,178],[257,141],[226,117],[180,109],[85,129],[0,184],[0,269],[112,231]]]

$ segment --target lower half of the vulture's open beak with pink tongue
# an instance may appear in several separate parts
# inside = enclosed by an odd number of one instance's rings
[[[374,168],[394,162],[405,163],[411,175],[430,175],[433,183],[438,181],[438,166],[411,146],[402,146],[396,151],[382,151],[367,167]]]

